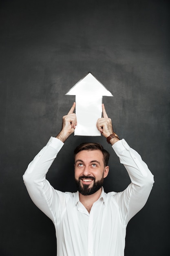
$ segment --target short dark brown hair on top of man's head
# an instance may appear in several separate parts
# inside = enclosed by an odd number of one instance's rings
[[[110,154],[108,153],[108,151],[106,149],[103,148],[102,145],[100,145],[99,143],[81,143],[79,146],[77,146],[77,148],[75,148],[74,150],[74,158],[77,155],[77,153],[79,153],[82,150],[100,150],[103,154],[103,158],[104,158],[104,166],[108,165],[108,160],[110,157]]]

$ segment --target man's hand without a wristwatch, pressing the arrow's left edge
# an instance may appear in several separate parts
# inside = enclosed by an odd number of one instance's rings
[[[62,142],[65,142],[66,139],[74,132],[75,126],[77,125],[77,119],[75,113],[75,102],[71,107],[67,115],[62,118],[62,130],[56,136],[57,139],[60,139]]]

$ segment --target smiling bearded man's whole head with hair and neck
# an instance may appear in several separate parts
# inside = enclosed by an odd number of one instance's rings
[[[98,199],[104,178],[108,175],[109,153],[100,144],[83,143],[75,149],[74,154],[75,182],[80,193],[80,202],[87,201],[86,195]],[[89,213],[92,205],[93,200],[92,203],[85,205]]]

